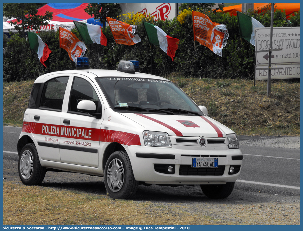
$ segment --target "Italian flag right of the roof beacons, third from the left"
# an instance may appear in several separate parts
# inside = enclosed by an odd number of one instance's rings
[[[170,37],[161,28],[153,24],[143,22],[145,32],[150,44],[159,46],[174,61],[179,39]]]

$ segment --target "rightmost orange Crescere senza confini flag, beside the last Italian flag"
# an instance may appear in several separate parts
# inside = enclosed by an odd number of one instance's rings
[[[226,25],[212,22],[208,16],[196,11],[192,11],[192,23],[194,40],[222,56],[222,49],[228,39]]]

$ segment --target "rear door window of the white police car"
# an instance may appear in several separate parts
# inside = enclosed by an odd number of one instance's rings
[[[62,109],[68,76],[58,77],[45,83],[40,107],[45,109]]]

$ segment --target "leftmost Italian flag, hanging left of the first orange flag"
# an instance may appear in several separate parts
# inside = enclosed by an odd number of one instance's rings
[[[35,50],[38,54],[40,62],[46,67],[44,62],[48,59],[52,51],[48,48],[47,44],[42,41],[40,36],[33,32],[27,32],[29,48]]]

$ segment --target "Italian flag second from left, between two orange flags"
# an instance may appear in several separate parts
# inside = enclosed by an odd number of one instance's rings
[[[102,33],[101,26],[74,21],[74,24],[85,44],[97,43],[106,46],[107,38]]]

